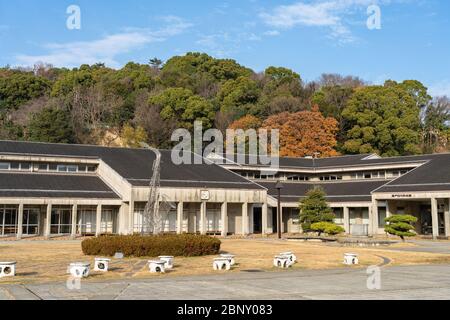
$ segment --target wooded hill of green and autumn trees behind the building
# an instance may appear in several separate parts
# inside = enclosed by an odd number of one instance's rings
[[[277,128],[284,156],[448,151],[450,101],[417,80],[370,85],[324,74],[304,82],[202,53],[165,63],[72,70],[0,68],[0,139],[168,148],[176,128]]]

